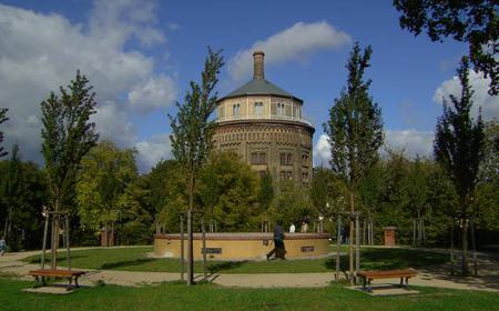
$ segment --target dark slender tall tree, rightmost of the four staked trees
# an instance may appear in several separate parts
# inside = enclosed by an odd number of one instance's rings
[[[458,69],[460,99],[449,96],[454,108],[444,103],[444,114],[438,119],[434,142],[435,158],[451,179],[459,197],[464,275],[468,274],[469,205],[483,154],[481,116],[479,113],[476,121],[470,116],[473,91],[469,86],[468,72],[468,59],[464,57]]]

